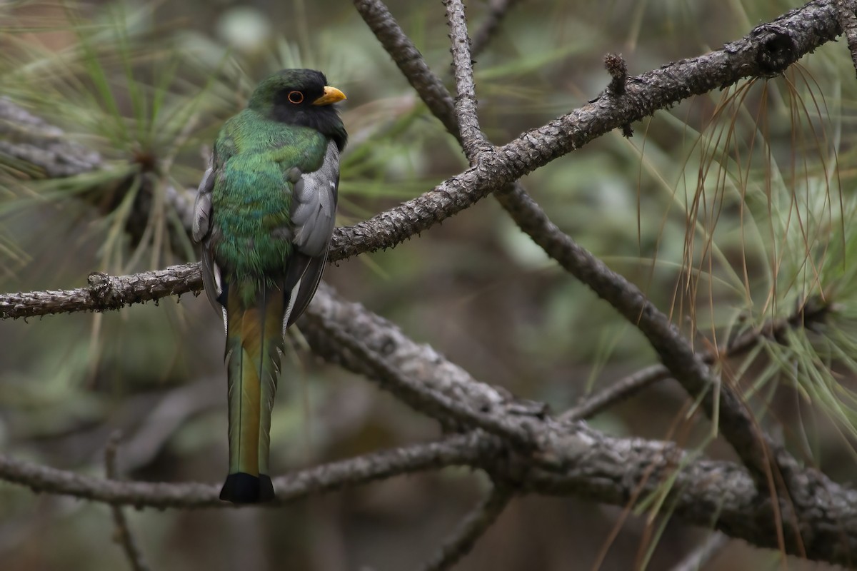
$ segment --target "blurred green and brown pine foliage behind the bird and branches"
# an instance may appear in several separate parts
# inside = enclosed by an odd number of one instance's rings
[[[476,57],[482,126],[501,144],[585,104],[608,83],[605,53],[621,52],[641,73],[716,49],[794,7],[520,3]],[[390,8],[452,88],[440,3]],[[468,9],[472,33],[488,3]],[[196,186],[219,126],[255,82],[284,67],[320,68],[348,94],[340,225],[466,166],[351,3],[0,2],[0,97],[62,128],[60,139],[98,164],[57,177],[0,151],[3,290],[75,288],[91,271],[195,259],[171,198]],[[831,43],[783,77],[693,98],[635,124],[630,140],[608,134],[524,179],[561,229],[638,283],[700,349],[788,317],[807,300],[830,306],[824,325],[790,330],[722,367],[760,422],[843,481],[855,455],[857,233],[848,221],[857,203],[842,192],[854,179],[846,166],[853,75],[844,45]],[[491,199],[393,250],[339,263],[326,279],[474,377],[557,412],[654,359],[631,325]],[[299,331],[293,336],[300,348]],[[222,344],[218,316],[191,295],[0,323],[0,449],[103,473],[105,443],[118,429],[129,477],[217,482],[226,464]],[[277,473],[437,433],[375,385],[306,351],[287,355],[284,368],[273,419]],[[663,382],[592,422],[731,458],[692,405]],[[484,488],[477,476],[447,470],[284,509],[130,516],[154,569],[400,569],[425,559]],[[637,514],[520,498],[459,568],[661,569],[706,534]],[[105,506],[0,483],[4,570],[123,568],[111,535]],[[733,542],[709,568],[779,561]]]

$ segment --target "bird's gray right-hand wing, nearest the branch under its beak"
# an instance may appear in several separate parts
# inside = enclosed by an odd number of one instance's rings
[[[319,170],[303,173],[292,189],[291,223],[295,254],[286,271],[285,287],[291,289],[289,317],[295,323],[313,299],[327,261],[327,248],[336,223],[339,187],[339,149],[327,144]]]

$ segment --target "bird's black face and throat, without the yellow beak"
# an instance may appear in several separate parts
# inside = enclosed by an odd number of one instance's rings
[[[321,72],[304,69],[280,77],[273,94],[273,119],[291,125],[314,128],[345,147],[345,128],[333,105],[314,105],[324,95],[327,78]],[[285,86],[284,86],[285,84]]]

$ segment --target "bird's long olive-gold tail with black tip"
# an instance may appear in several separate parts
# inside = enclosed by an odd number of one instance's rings
[[[255,294],[246,294],[247,288]],[[271,408],[284,349],[285,294],[271,284],[229,283],[226,297],[226,369],[229,385],[229,475],[220,499],[267,502]]]

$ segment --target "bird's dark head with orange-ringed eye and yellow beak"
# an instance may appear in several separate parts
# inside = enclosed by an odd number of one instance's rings
[[[333,104],[343,99],[345,93],[328,86],[320,71],[283,69],[262,80],[248,107],[273,121],[314,128],[342,151],[348,135]]]

